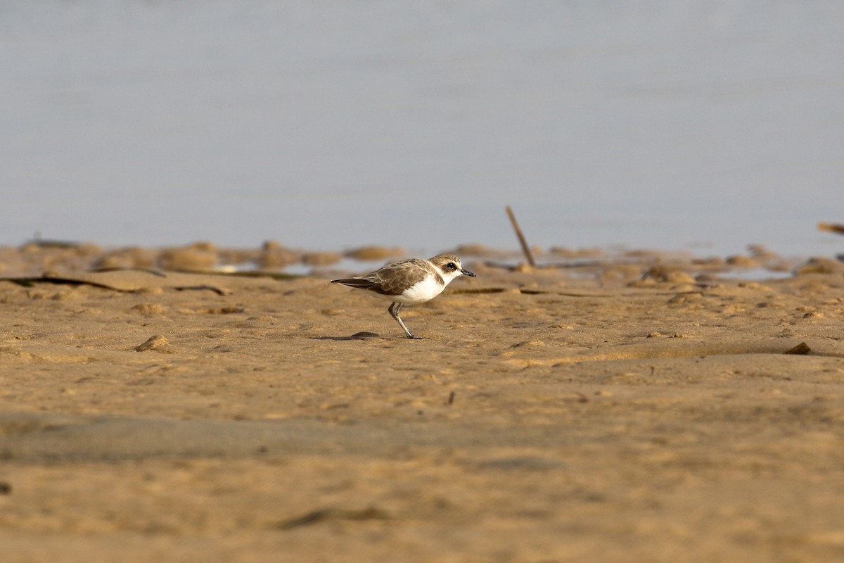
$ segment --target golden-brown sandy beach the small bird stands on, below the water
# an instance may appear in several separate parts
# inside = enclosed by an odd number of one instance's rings
[[[0,282],[5,562],[844,560],[837,263],[464,257],[408,340],[333,272],[102,255],[0,252],[64,268]]]

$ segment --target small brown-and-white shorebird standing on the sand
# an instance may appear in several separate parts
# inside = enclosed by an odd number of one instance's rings
[[[408,338],[419,338],[404,326],[398,311],[403,305],[419,305],[434,299],[452,279],[460,275],[475,277],[475,274],[463,269],[460,258],[453,254],[437,254],[427,260],[401,260],[357,278],[332,279],[331,283],[366,290],[371,295],[391,300],[387,311],[392,318],[396,319]]]

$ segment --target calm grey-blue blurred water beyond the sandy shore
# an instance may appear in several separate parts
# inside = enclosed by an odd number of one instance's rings
[[[831,255],[844,3],[0,2],[0,245]]]

